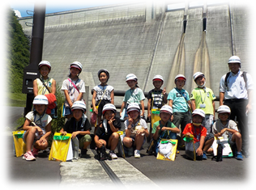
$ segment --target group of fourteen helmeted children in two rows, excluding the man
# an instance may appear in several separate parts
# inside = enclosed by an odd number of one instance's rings
[[[83,65],[79,61],[71,63],[68,79],[62,83],[62,91],[66,97],[63,112],[68,120],[60,133],[62,135],[72,133],[72,139],[78,138],[81,157],[85,157],[92,137],[90,136],[91,125],[85,116],[84,82],[79,78],[82,69]],[[56,92],[56,82],[53,78],[48,77],[50,70],[49,61],[41,61],[39,63],[41,78],[37,78],[33,83],[35,110],[27,114],[23,125],[23,129],[26,131],[23,134],[23,141],[26,142],[26,154],[23,155],[23,159],[26,160],[35,160],[38,151],[45,150],[48,146],[52,119],[45,113],[49,100],[46,96],[54,95]],[[98,152],[104,152],[105,148],[108,148],[110,157],[114,159],[117,158],[114,150],[119,141],[117,131],[121,129],[121,120],[119,116],[116,116],[117,109],[113,104],[113,87],[107,84],[109,71],[99,70],[98,78],[100,85],[93,88],[92,95],[92,110],[97,115],[94,141]],[[211,152],[214,137],[221,137],[225,134],[231,145],[237,145],[236,158],[242,160],[241,135],[236,123],[233,120],[228,120],[230,109],[227,106],[220,106],[218,109],[219,119],[212,126],[215,119],[215,95],[211,89],[205,87],[204,74],[201,72],[194,74],[194,82],[198,87],[191,92],[191,95],[183,89],[186,84],[184,75],[178,74],[174,82],[176,87],[167,96],[165,87],[163,90],[161,89],[164,83],[163,77],[156,75],[153,78],[155,88],[147,95],[147,118],[151,120],[151,109],[157,109],[160,111],[160,120],[156,121],[148,130],[144,117],[143,100],[145,96],[138,86],[138,78],[134,74],[126,76],[126,83],[130,89],[126,91],[120,110],[120,117],[124,120],[126,129],[122,140],[126,154],[140,158],[140,150],[147,137],[156,141],[154,151],[157,154],[157,145],[161,138],[168,136],[176,139],[177,133],[181,133],[180,148],[185,148],[182,138],[192,136],[197,158],[207,159],[207,153]],[[191,111],[193,111],[192,114]],[[180,125],[181,130],[179,129]]]

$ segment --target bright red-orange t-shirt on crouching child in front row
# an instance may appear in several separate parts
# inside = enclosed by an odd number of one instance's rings
[[[194,143],[200,141],[202,136],[207,136],[207,129],[200,125],[199,127],[194,127],[192,123],[187,124],[182,134],[191,133],[194,135]]]

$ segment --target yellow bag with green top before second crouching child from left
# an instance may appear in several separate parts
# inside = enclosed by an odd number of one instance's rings
[[[49,160],[66,162],[67,154],[70,149],[71,136],[71,133],[66,133],[66,135],[62,135],[62,133],[54,133],[53,143],[49,153]]]

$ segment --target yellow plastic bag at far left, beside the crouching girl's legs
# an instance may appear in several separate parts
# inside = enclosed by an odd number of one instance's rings
[[[23,133],[25,131],[13,131],[13,141],[15,144],[15,155],[16,157],[22,156],[26,152],[26,144],[23,141]]]

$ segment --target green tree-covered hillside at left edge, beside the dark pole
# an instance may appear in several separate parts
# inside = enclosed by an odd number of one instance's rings
[[[23,69],[29,64],[29,40],[9,3],[0,11],[0,91],[21,93]]]

